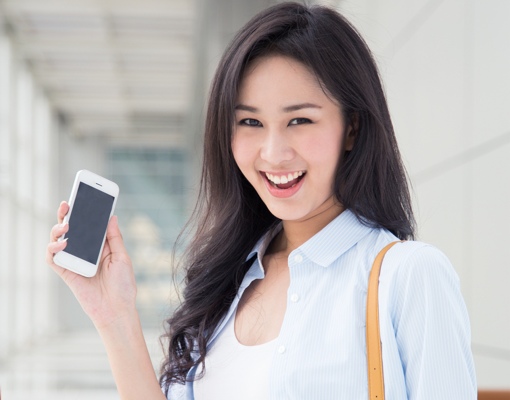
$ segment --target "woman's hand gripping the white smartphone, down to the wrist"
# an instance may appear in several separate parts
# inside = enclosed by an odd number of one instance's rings
[[[46,262],[69,286],[98,329],[118,319],[130,318],[133,313],[136,314],[136,283],[117,217],[113,216],[108,223],[106,242],[96,275],[86,278],[53,262],[54,254],[67,245],[66,241],[59,242],[57,239],[69,229],[68,224],[62,224],[68,211],[69,205],[62,202],[57,211],[58,224],[51,229]]]

